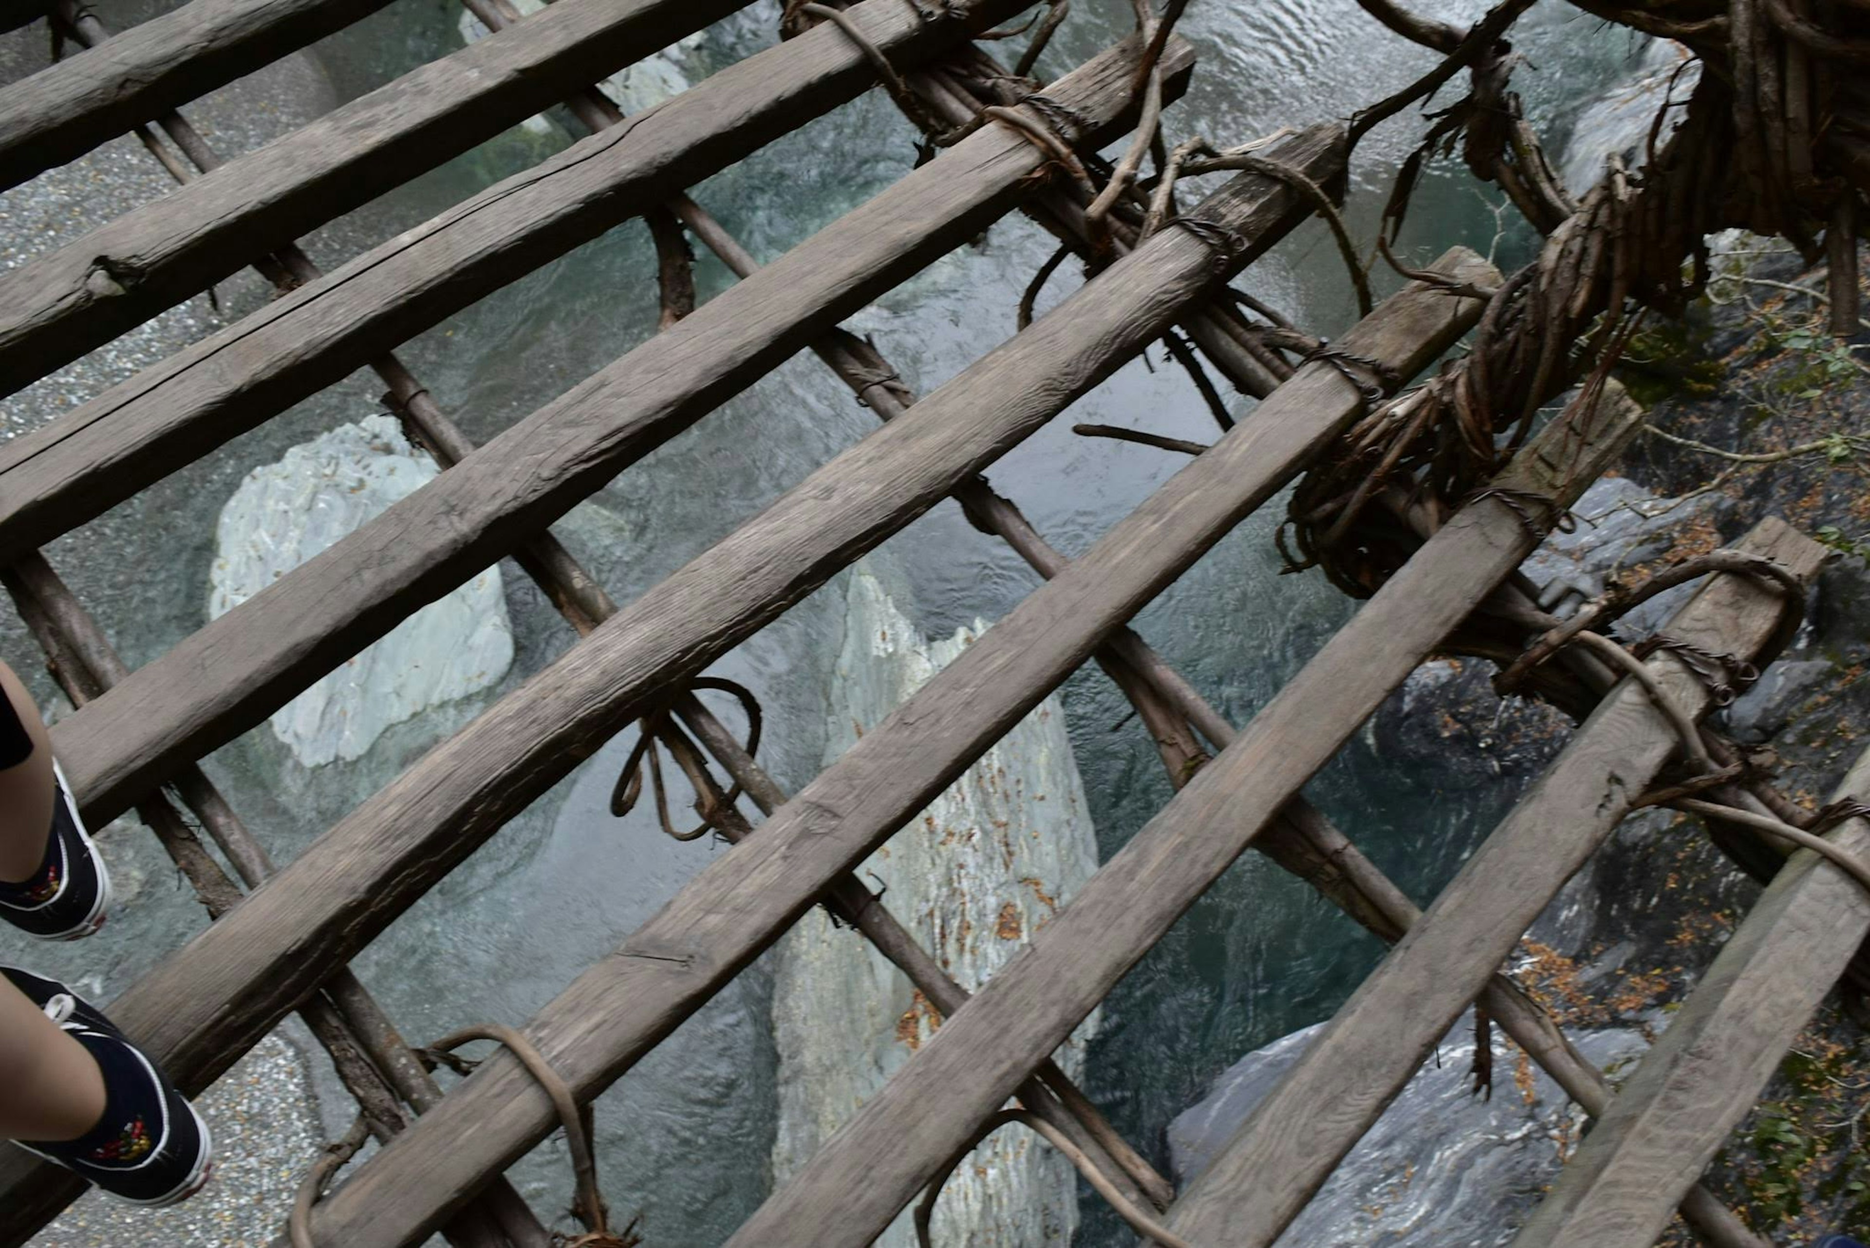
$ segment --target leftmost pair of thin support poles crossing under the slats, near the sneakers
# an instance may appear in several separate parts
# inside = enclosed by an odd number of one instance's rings
[[[43,556],[36,552],[0,571],[0,582],[6,584],[73,705],[84,705],[129,674],[103,631]],[[198,767],[180,775],[174,788],[249,887],[273,872],[266,849]],[[202,848],[194,829],[168,797],[151,793],[138,803],[137,816],[189,878],[209,919],[219,919],[241,900],[239,885]],[[331,1055],[338,1080],[355,1096],[378,1141],[389,1139],[406,1125],[396,1106],[398,1096],[417,1111],[441,1100],[441,1087],[350,969],[333,975],[322,995],[309,997],[299,1007],[299,1016]],[[56,1175],[54,1181],[37,1184],[22,1199],[9,1199],[0,1209],[0,1242],[22,1242],[84,1192],[86,1184],[77,1175],[50,1173]],[[509,1242],[512,1248],[548,1248],[550,1244],[550,1235],[539,1218],[505,1179],[464,1209],[441,1233],[458,1248],[503,1248]]]

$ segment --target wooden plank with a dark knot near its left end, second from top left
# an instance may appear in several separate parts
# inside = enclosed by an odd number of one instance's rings
[[[742,0],[559,0],[0,275],[0,395]],[[978,28],[1021,0],[954,6]],[[116,39],[110,41],[112,45]]]

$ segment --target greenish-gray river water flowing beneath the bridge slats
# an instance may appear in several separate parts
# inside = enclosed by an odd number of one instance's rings
[[[122,28],[172,4],[99,7]],[[1434,0],[1432,7],[1451,21],[1479,13],[1475,4],[1457,0]],[[1128,11],[1118,0],[1079,0],[1042,69],[1057,73],[1118,37]],[[699,80],[770,45],[774,19],[774,4],[757,4],[666,62],[690,82]],[[1182,30],[1201,62],[1187,97],[1169,112],[1171,138],[1201,133],[1229,144],[1281,125],[1343,118],[1431,64],[1352,0],[1199,0]],[[230,150],[251,146],[460,43],[451,4],[398,0],[320,43],[312,60],[299,58],[290,101],[239,110],[239,123],[230,120],[211,137]],[[1573,168],[1590,170],[1601,159],[1593,153],[1621,142],[1621,131],[1616,109],[1580,112],[1580,103],[1599,88],[1653,73],[1653,51],[1556,0],[1522,22],[1520,51],[1526,64],[1515,82],[1528,112],[1558,150],[1569,150]],[[1588,133],[1571,142],[1580,116]],[[1359,148],[1348,217],[1361,236],[1369,236],[1395,167],[1419,129],[1417,118],[1404,114]],[[567,142],[563,118],[514,127],[352,213],[325,230],[312,253],[320,262],[340,262]],[[114,144],[108,155],[144,159],[127,142]],[[881,94],[871,94],[701,183],[694,195],[755,256],[774,256],[907,174],[913,161],[909,127]],[[1423,260],[1459,241],[1494,249],[1502,264],[1524,260],[1532,239],[1500,226],[1498,198],[1459,161],[1436,167],[1416,196],[1404,232],[1408,254]],[[0,208],[6,204],[0,200]],[[101,208],[75,202],[71,219],[45,226],[52,234],[47,241],[75,236],[88,211]],[[1049,251],[1049,236],[1008,217],[853,318],[851,327],[873,335],[901,376],[926,393],[1014,333],[1019,292]],[[701,262],[703,296],[729,281],[718,264]],[[1075,266],[1064,266],[1042,307],[1077,281]],[[1316,223],[1279,245],[1245,284],[1324,333],[1341,331],[1352,316],[1350,286]],[[198,299],[170,314],[163,331],[198,335],[264,297],[252,283],[228,283],[223,312]],[[653,333],[651,251],[632,223],[402,350],[443,408],[484,440]],[[129,356],[107,357],[67,370],[11,400],[7,417],[15,428],[47,419],[125,376],[135,363]],[[133,666],[206,621],[217,516],[243,477],[292,445],[376,412],[378,389],[372,378],[355,376],[50,548],[54,565]],[[1167,453],[1077,438],[1072,421],[1214,436],[1187,378],[1152,350],[1150,365],[1122,369],[1070,419],[1010,453],[989,475],[1068,554],[1090,544],[1178,468]],[[871,415],[815,359],[793,359],[623,473],[557,531],[619,601],[628,601],[871,425]],[[1137,621],[1236,722],[1249,718],[1352,610],[1318,576],[1279,574],[1272,546],[1279,511],[1275,503],[1240,526]],[[952,503],[909,526],[873,561],[888,569],[899,586],[898,606],[928,634],[952,632],[976,617],[991,621],[1036,584],[1004,546],[969,528]],[[823,763],[843,582],[838,578],[714,668],[761,696],[769,728],[761,756],[787,786],[804,784]],[[434,741],[568,647],[568,629],[511,565],[505,599],[514,659],[496,687],[391,726],[361,758],[307,767],[273,733],[258,730],[209,760],[213,778],[277,857],[303,849]],[[37,670],[9,614],[0,640],[19,670]],[[41,681],[39,690],[50,704],[50,685]],[[1144,733],[1128,718],[1128,705],[1100,674],[1073,677],[1062,702],[1098,844],[1109,857],[1169,801],[1171,790]],[[675,844],[643,812],[621,821],[608,814],[630,735],[514,820],[359,960],[361,975],[408,1035],[432,1037],[484,1018],[524,1020],[722,851],[707,842]],[[1431,896],[1511,799],[1503,786],[1470,788],[1453,771],[1395,765],[1365,739],[1352,741],[1309,791],[1417,898]],[[193,900],[146,836],[116,836],[112,846],[137,904],[82,958],[60,951],[60,965],[86,975],[103,994],[200,924]],[[1131,1139],[1159,1153],[1167,1121],[1221,1068],[1326,1016],[1378,952],[1371,937],[1307,889],[1249,855],[1118,986],[1088,1053],[1090,1091]],[[611,1205],[641,1209],[651,1242],[716,1242],[765,1194],[776,1061],[769,986],[759,967],[744,975],[600,1106]],[[516,1175],[531,1194],[550,1192],[550,1203],[563,1197],[565,1169],[563,1149],[548,1143]],[[1077,1242],[1124,1242],[1094,1197],[1085,1201]]]

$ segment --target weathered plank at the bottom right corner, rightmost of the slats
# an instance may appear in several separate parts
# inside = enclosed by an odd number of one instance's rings
[[[1870,801],[1870,750],[1834,797]],[[1870,821],[1849,820],[1827,840],[1870,857]],[[1863,885],[1810,849],[1795,853],[1513,1246],[1653,1244],[1672,1203],[1760,1098],[1866,934],[1870,896]]]

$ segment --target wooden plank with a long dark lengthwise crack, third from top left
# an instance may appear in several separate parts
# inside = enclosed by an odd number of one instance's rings
[[[995,13],[1025,0],[993,0]],[[901,0],[851,21],[894,60],[967,34]],[[114,43],[114,39],[112,39]],[[623,131],[572,144],[344,268],[0,445],[0,546],[41,546],[488,292],[855,99],[875,71],[832,24],[767,49]]]

